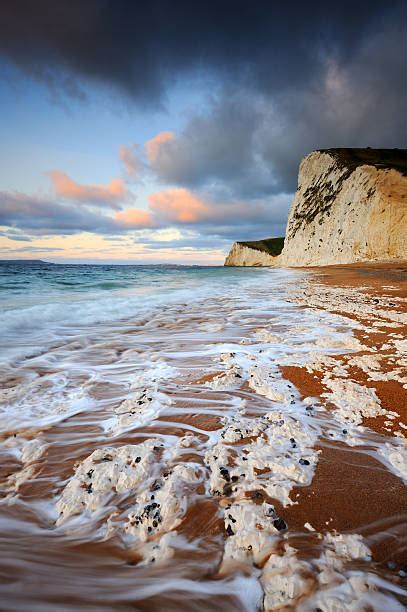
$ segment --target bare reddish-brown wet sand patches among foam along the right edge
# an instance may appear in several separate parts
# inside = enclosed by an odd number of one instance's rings
[[[352,264],[330,266],[314,269],[318,281],[335,288],[346,289],[363,286],[363,293],[381,299],[407,298],[407,263],[394,264]],[[386,290],[383,286],[392,286]],[[407,302],[394,302],[392,308],[397,312],[407,311]],[[342,316],[349,313],[333,310]],[[363,324],[366,318],[352,315]],[[379,328],[380,329],[380,328]],[[387,331],[386,328],[383,328]],[[392,331],[407,337],[407,326],[400,325]],[[375,354],[383,357],[382,367],[386,371],[388,349],[380,350],[386,344],[386,335],[355,330],[355,337],[365,347],[373,348]],[[378,346],[379,345],[379,346]],[[360,354],[366,354],[361,351]],[[341,356],[338,356],[340,359]],[[311,374],[301,367],[283,367],[283,375],[291,380],[303,397],[321,398],[327,390],[322,382],[322,372]],[[400,430],[400,423],[407,426],[407,391],[403,385],[394,380],[372,381],[360,368],[349,369],[349,379],[366,387],[375,389],[381,405],[386,410],[393,410],[400,416],[394,423],[385,426],[386,417],[364,418],[363,425],[383,436],[390,436]],[[391,474],[374,457],[366,454],[364,449],[351,450],[341,443],[329,439],[321,446],[318,466],[312,485],[299,488],[294,492],[298,505],[285,512],[287,520],[292,521],[295,529],[301,529],[308,521],[317,531],[336,529],[337,531],[358,531],[369,533],[383,525],[383,533],[372,546],[378,561],[395,562],[397,567],[407,562],[407,489],[403,482]]]

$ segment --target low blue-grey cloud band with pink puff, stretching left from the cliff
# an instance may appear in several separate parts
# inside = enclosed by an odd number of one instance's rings
[[[2,230],[4,235],[24,232],[24,240],[82,232],[118,235],[144,229],[155,230],[159,240],[168,242],[171,236],[177,240],[174,232],[182,228],[202,236],[249,239],[284,233],[290,201],[289,194],[279,194],[250,204],[217,202],[187,189],[165,189],[149,196],[147,210],[127,208],[109,216],[85,206],[3,191],[0,226],[9,228]]]

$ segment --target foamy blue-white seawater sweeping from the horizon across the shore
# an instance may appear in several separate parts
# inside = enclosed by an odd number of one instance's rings
[[[266,503],[270,508],[273,499],[289,505],[294,485],[311,484],[315,448],[321,440],[330,443],[328,430],[344,438],[341,422],[317,401],[301,400],[279,370],[310,352],[352,350],[346,348],[352,346],[351,321],[293,302],[307,278],[304,272],[271,269],[0,267],[2,608],[256,610],[264,590],[273,591],[275,584],[276,592],[291,593],[288,603],[303,606],[298,609],[331,609],[326,602],[332,589],[338,590],[332,597],[345,602],[343,609],[402,609],[403,591],[391,572],[363,555],[341,557],[305,528],[297,550],[307,565],[298,561],[298,572],[277,571],[267,582],[267,556],[281,552],[298,532],[291,533],[290,525],[282,531],[262,528],[260,550],[268,555],[258,559],[233,549],[233,538],[246,546],[255,537],[248,523],[238,522],[233,535],[227,532],[236,504],[251,516]],[[277,413],[284,433],[276,429]],[[237,430],[241,437],[228,442]],[[380,459],[383,440],[355,432],[360,452]],[[264,441],[262,448],[251,446],[252,434]],[[74,501],[83,495],[83,510],[59,514],[75,470],[91,453],[109,447],[114,455],[150,439],[158,450],[146,463],[145,478],[127,488],[113,482],[112,491],[104,489],[91,507],[102,465],[96,462],[91,476],[84,475],[89,483],[93,478],[93,489],[86,485],[85,495],[81,481],[74,495]],[[229,454],[230,474],[238,474],[235,489],[230,485],[219,494],[218,470],[225,466],[214,448]],[[243,474],[242,457],[248,468],[265,462],[268,471]],[[391,467],[384,458],[382,465]],[[176,481],[176,466],[188,468],[191,481]],[[169,490],[168,516],[163,509],[163,527],[145,537],[138,527],[129,528],[128,515],[146,496],[151,500],[157,480],[162,491]],[[263,506],[252,499],[259,489]],[[174,497],[181,500],[177,507],[171,505]],[[283,518],[269,516],[271,523]],[[376,526],[374,537],[398,533],[403,521],[396,517],[390,527]],[[320,559],[327,551],[340,568],[336,574],[331,568],[335,576],[322,584],[318,563],[325,563]],[[293,585],[301,584],[304,572],[311,577],[298,587],[297,601]],[[339,574],[347,580],[360,575],[369,588],[355,586],[349,594]],[[277,609],[274,591],[267,601],[268,609]],[[365,608],[356,608],[355,601]]]

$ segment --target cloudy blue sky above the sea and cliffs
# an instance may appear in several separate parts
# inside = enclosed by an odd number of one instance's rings
[[[407,142],[407,3],[2,0],[0,258],[220,264]]]

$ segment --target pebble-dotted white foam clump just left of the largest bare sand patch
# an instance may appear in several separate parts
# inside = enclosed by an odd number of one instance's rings
[[[311,483],[318,461],[318,451],[313,449],[317,430],[305,420],[271,411],[264,417],[232,419],[220,435],[221,440],[205,455],[210,490],[215,494],[226,490],[229,495],[242,495],[261,489],[290,505],[292,488]],[[235,443],[242,440],[237,447]]]

